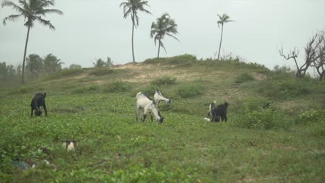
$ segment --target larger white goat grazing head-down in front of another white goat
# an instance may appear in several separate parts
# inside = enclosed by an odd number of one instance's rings
[[[158,107],[156,106],[155,101],[151,100],[147,95],[143,94],[142,92],[139,92],[136,96],[137,98],[137,121],[138,118],[141,119],[140,113],[143,112],[143,119],[144,120],[147,117],[147,114],[151,114],[151,121],[153,121],[153,116],[155,116],[156,120],[159,123],[163,123],[163,116],[160,115],[160,112],[158,110]]]

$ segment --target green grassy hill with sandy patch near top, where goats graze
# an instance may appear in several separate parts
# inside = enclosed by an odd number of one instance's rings
[[[136,121],[135,94],[155,89],[172,98],[158,105],[164,123]],[[30,116],[36,92],[47,92],[47,117]],[[325,82],[259,64],[181,55],[65,70],[1,89],[0,98],[3,182],[325,178]],[[229,103],[228,122],[203,120],[212,101]],[[66,140],[78,141],[75,152],[61,147]]]

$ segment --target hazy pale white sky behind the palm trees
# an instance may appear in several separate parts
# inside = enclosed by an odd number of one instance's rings
[[[1,1],[1,0],[0,0]],[[126,0],[123,0],[126,1]],[[56,0],[54,8],[63,16],[51,15],[56,30],[37,22],[31,29],[27,55],[42,57],[52,53],[70,64],[92,67],[95,58],[109,56],[114,64],[132,62],[130,17],[123,18],[122,0]],[[231,22],[224,27],[222,53],[233,53],[246,62],[258,62],[272,69],[276,64],[292,65],[278,55],[283,44],[288,51],[294,46],[304,57],[303,46],[317,30],[325,28],[325,0],[147,0],[152,15],[139,13],[140,25],[135,30],[135,60],[142,62],[157,55],[149,36],[151,23],[164,12],[178,24],[177,42],[164,41],[167,49],[161,57],[189,53],[197,58],[212,58],[219,46],[221,29],[217,14],[226,12]],[[14,1],[17,2],[17,1]],[[0,8],[4,17],[15,10]],[[0,62],[20,64],[24,53],[27,28],[24,19],[0,24]],[[293,67],[292,67],[293,68]]]

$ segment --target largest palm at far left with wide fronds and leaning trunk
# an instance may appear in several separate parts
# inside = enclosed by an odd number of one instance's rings
[[[56,9],[45,9],[48,6],[54,6],[54,0],[19,0],[20,6],[13,3],[12,1],[3,1],[1,3],[2,8],[4,6],[11,7],[12,9],[16,10],[19,14],[17,15],[9,15],[3,19],[3,25],[6,25],[7,21],[15,21],[19,17],[24,17],[25,24],[24,26],[27,27],[27,36],[26,36],[26,43],[25,43],[25,50],[24,50],[24,58],[23,58],[23,65],[22,65],[22,84],[25,84],[25,60],[26,60],[26,52],[27,52],[27,44],[28,44],[28,37],[29,31],[34,26],[34,21],[38,21],[40,24],[44,26],[49,26],[50,29],[55,30],[55,27],[51,24],[49,20],[42,19],[42,16],[49,13],[56,13],[58,15],[63,15],[63,12]]]

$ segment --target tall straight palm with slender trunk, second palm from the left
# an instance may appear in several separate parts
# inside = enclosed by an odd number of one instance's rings
[[[135,62],[133,35],[134,35],[134,28],[139,26],[138,11],[147,12],[148,14],[151,14],[151,12],[144,9],[144,6],[149,6],[148,1],[128,0],[128,1],[123,2],[119,5],[119,7],[122,7],[122,6],[123,6],[123,12],[124,12],[124,19],[126,19],[126,17],[128,17],[128,15],[131,15],[131,20],[132,20],[132,57],[133,57],[133,62]]]

